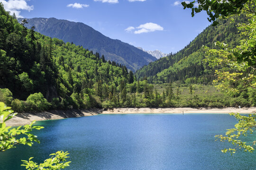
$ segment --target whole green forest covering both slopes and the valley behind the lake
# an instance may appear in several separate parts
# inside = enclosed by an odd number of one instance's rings
[[[26,23],[19,24],[0,4],[0,102],[15,111],[256,106],[255,90],[239,95],[216,90],[211,68],[201,63],[203,44],[238,43],[235,24],[226,20],[206,28],[182,51],[142,68],[137,77],[98,52],[39,34]]]

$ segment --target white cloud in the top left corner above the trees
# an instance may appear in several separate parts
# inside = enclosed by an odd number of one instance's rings
[[[15,13],[16,17],[22,17],[20,15],[20,10],[31,11],[34,9],[33,5],[27,5],[26,0],[0,0],[0,2],[3,3],[6,11],[10,11],[11,15]]]

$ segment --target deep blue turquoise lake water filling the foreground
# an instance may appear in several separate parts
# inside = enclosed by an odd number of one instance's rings
[[[70,153],[66,170],[256,170],[256,152],[220,152],[214,136],[233,128],[227,114],[124,114],[40,121],[41,144],[0,153],[0,170],[24,170],[20,160],[41,162]],[[247,140],[255,140],[248,136]]]

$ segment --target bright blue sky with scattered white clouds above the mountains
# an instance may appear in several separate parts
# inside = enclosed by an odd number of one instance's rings
[[[191,17],[178,0],[0,0],[17,17],[82,22],[102,34],[145,50],[182,50],[210,22]],[[188,1],[187,1],[188,2]],[[79,45],[79,44],[77,44]]]

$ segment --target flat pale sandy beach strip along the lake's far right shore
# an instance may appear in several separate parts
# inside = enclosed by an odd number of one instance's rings
[[[255,113],[256,107],[251,108],[115,108],[105,110],[102,114],[128,114],[128,113]]]

